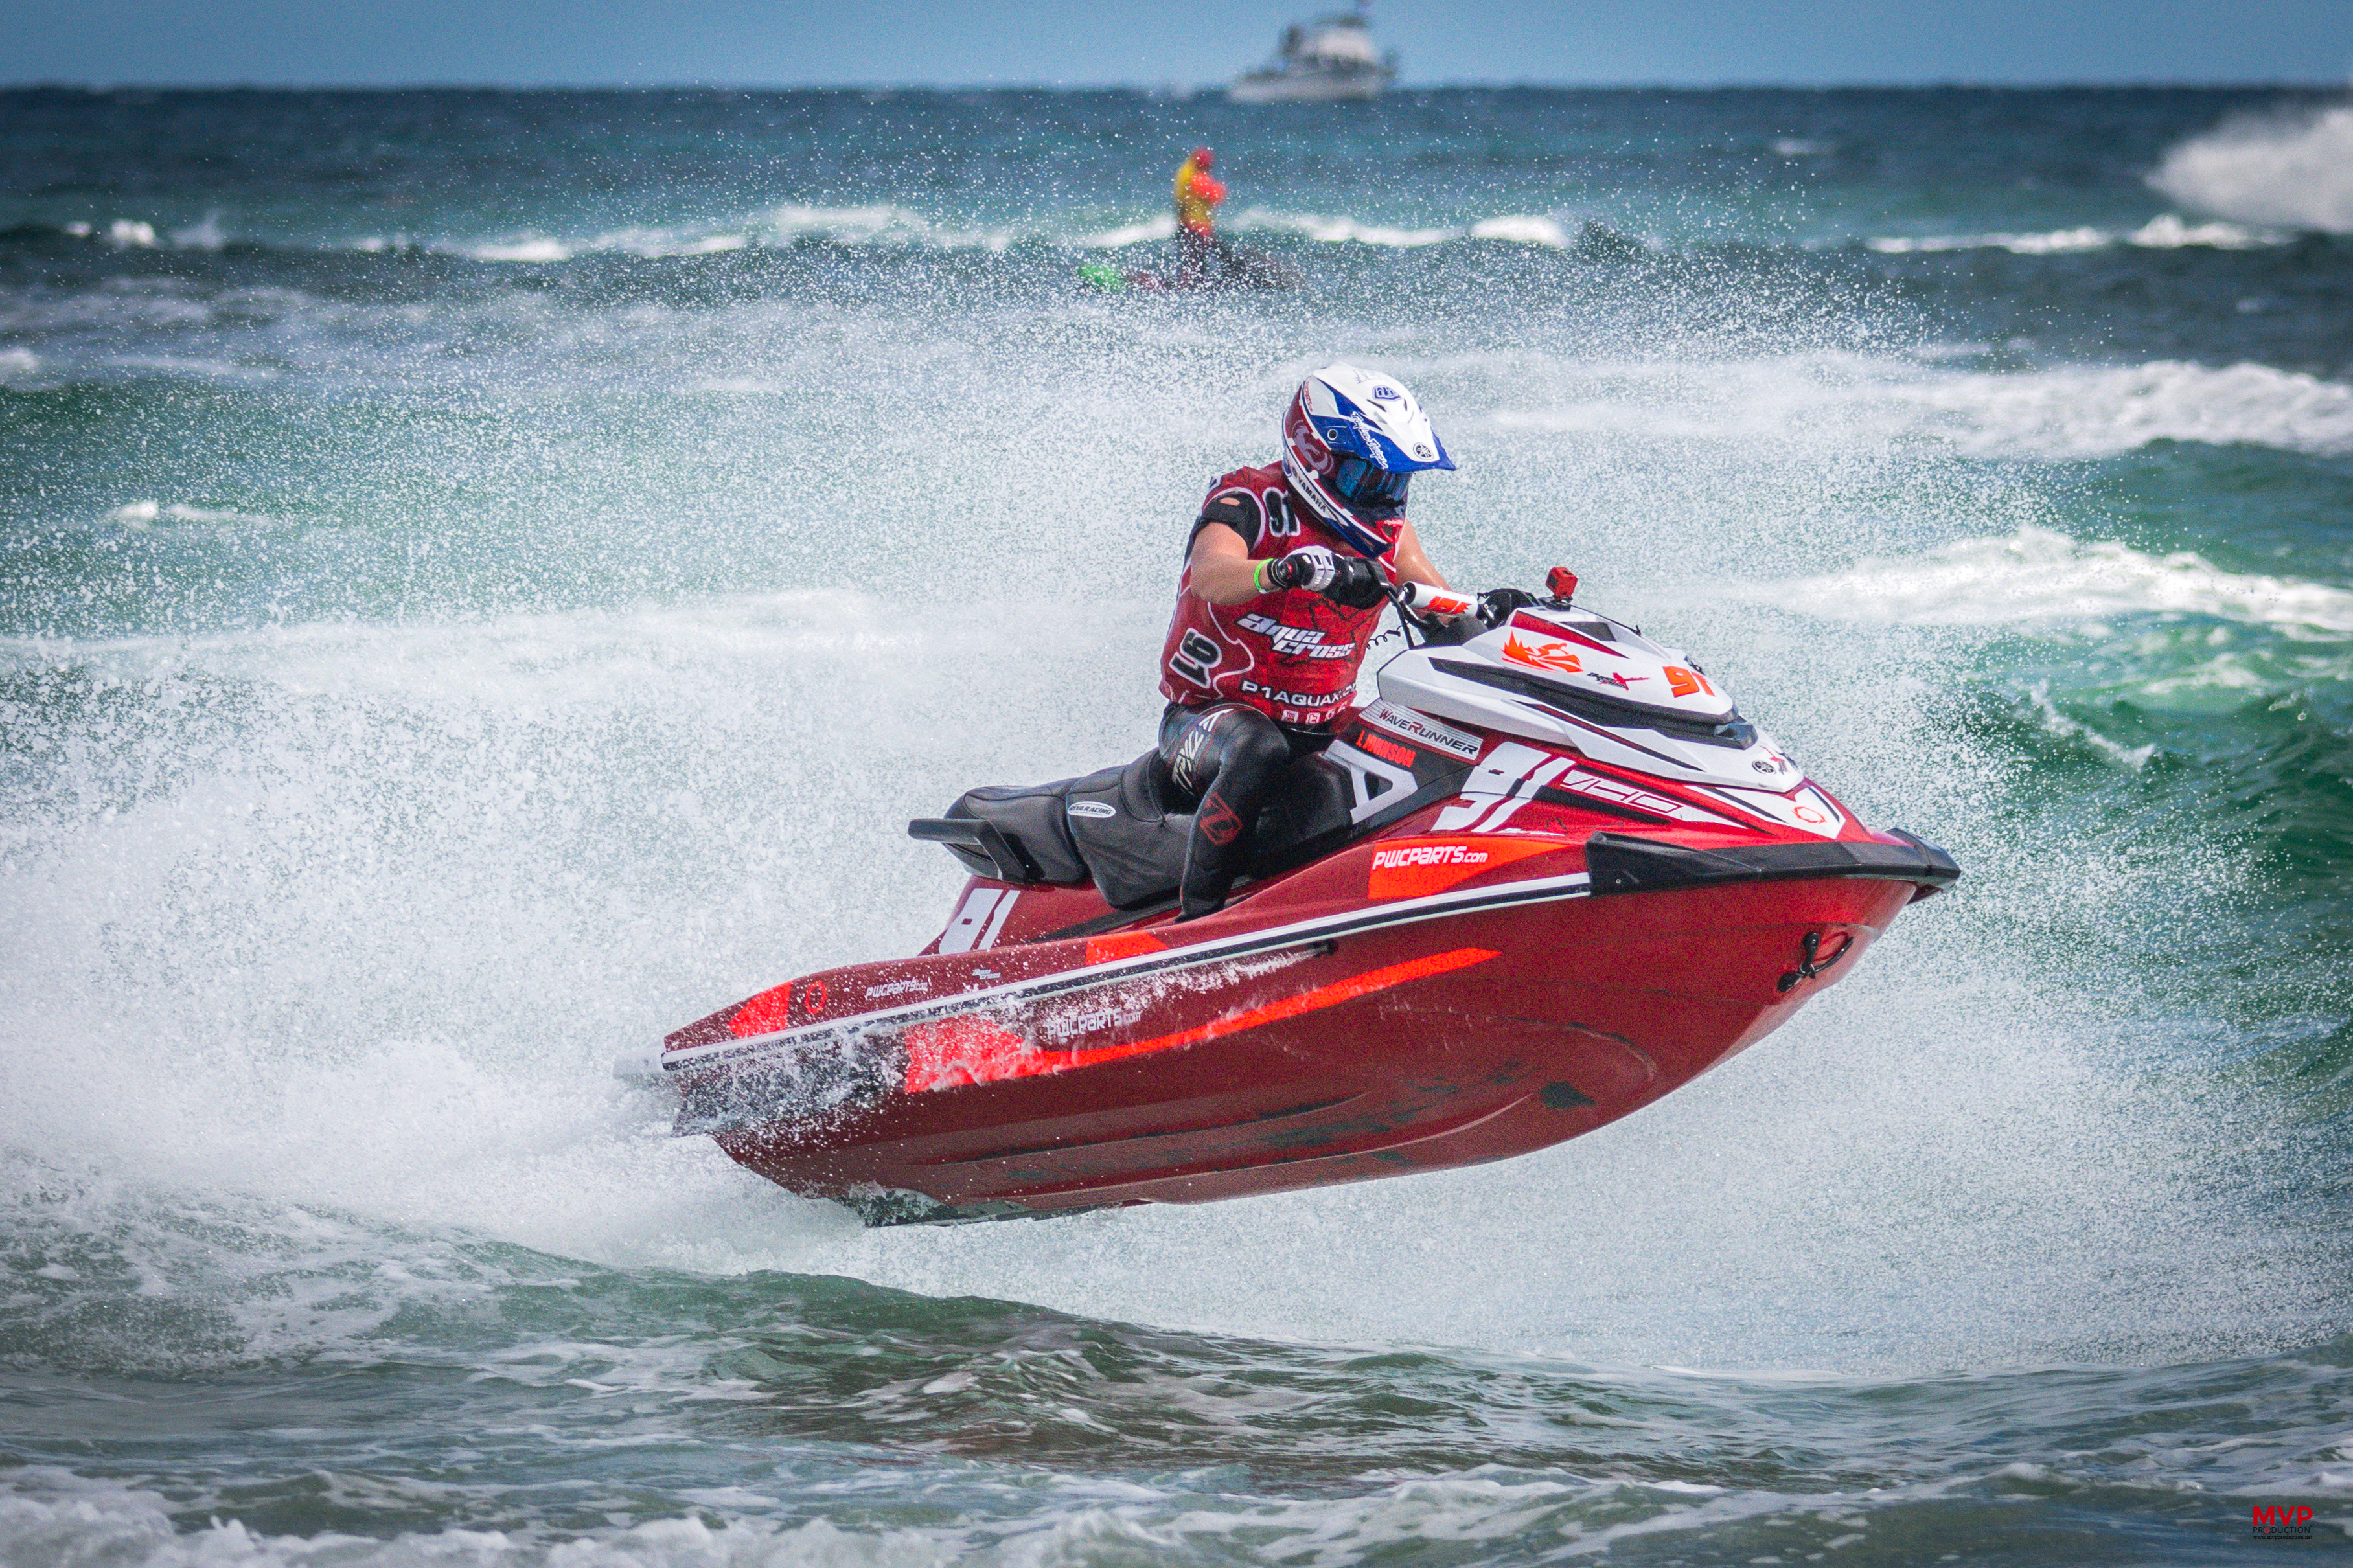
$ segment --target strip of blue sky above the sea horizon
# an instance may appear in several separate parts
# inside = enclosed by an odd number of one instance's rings
[[[0,82],[1179,85],[1329,0],[0,0]],[[1377,0],[1407,85],[2346,82],[2353,0]]]

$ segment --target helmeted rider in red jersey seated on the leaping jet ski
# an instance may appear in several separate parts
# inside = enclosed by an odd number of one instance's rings
[[[1327,364],[1282,414],[1282,461],[1209,487],[1160,651],[1160,759],[1200,797],[1179,919],[1224,907],[1266,785],[1353,712],[1386,588],[1447,585],[1405,517],[1424,468],[1454,458],[1405,383]]]

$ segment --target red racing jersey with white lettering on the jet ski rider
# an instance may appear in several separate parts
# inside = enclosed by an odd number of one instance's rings
[[[1209,487],[1198,536],[1221,522],[1249,545],[1249,559],[1273,559],[1306,545],[1355,555],[1292,498],[1282,465],[1235,468]],[[1398,581],[1398,536],[1405,520],[1374,522],[1386,548],[1374,557],[1381,578]],[[1381,607],[1348,609],[1304,588],[1261,592],[1242,604],[1209,604],[1193,592],[1191,538],[1186,574],[1176,583],[1176,614],[1160,649],[1160,693],[1186,708],[1249,703],[1275,724],[1329,729],[1355,710],[1355,672]]]

